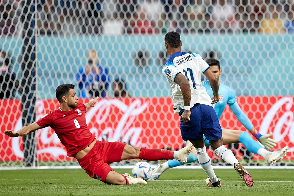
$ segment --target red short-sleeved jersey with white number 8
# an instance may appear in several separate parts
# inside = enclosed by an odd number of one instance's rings
[[[95,140],[86,124],[86,105],[78,103],[78,107],[70,112],[60,108],[51,110],[36,123],[41,127],[50,126],[58,135],[66,148],[66,155],[70,156],[86,148]]]

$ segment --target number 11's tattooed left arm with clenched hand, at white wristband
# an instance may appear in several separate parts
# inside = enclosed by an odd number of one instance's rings
[[[187,78],[182,74],[179,73],[175,77],[175,83],[178,84],[181,88],[183,99],[184,99],[184,105],[190,106],[191,104],[191,89],[190,89],[190,83],[187,80]],[[191,111],[184,110],[183,114],[181,115],[181,119],[184,123],[188,122],[190,120]]]

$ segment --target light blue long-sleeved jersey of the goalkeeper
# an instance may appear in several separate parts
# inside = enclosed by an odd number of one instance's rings
[[[206,88],[206,92],[208,93],[210,97],[212,97],[213,92],[208,80],[203,81],[202,86]],[[232,112],[235,114],[235,116],[239,120],[239,122],[242,123],[242,125],[246,129],[250,130],[253,128],[253,124],[250,122],[249,118],[243,113],[243,111],[239,107],[237,103],[236,93],[235,91],[233,91],[233,89],[231,89],[224,83],[220,82],[220,86],[218,88],[218,95],[220,97],[219,102],[213,104],[213,108],[216,111],[218,120],[220,119],[220,116],[223,114],[225,105],[228,104]]]

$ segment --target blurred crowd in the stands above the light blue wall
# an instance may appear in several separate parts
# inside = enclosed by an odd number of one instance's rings
[[[0,1],[0,34],[20,33],[22,1]],[[38,0],[38,33],[293,33],[294,0]]]

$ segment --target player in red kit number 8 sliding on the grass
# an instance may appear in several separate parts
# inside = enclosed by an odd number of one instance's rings
[[[128,173],[115,172],[108,164],[126,159],[144,159],[149,161],[177,159],[186,163],[188,154],[193,148],[187,145],[179,151],[163,149],[146,149],[133,147],[122,142],[104,142],[95,138],[86,124],[85,113],[94,107],[98,97],[86,103],[78,103],[73,84],[62,84],[56,88],[56,98],[60,107],[51,110],[36,122],[24,126],[16,133],[6,130],[10,137],[27,135],[38,129],[48,127],[54,129],[61,143],[66,148],[67,156],[74,157],[92,178],[107,184],[146,184],[141,178],[133,178]]]

